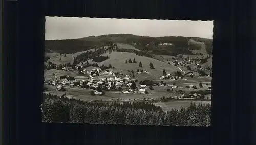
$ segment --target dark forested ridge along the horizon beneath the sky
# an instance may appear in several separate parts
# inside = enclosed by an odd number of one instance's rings
[[[132,34],[110,34],[90,36],[79,39],[46,40],[45,49],[47,52],[54,51],[68,54],[86,51],[94,47],[100,47],[103,45],[108,45],[110,43],[125,43],[133,45],[140,50],[152,51],[152,53],[161,50],[174,53],[190,53],[189,50],[195,49],[191,46],[191,44],[188,43],[190,39],[204,43],[206,52],[208,54],[211,54],[212,39],[181,36],[147,37],[136,36]],[[165,43],[171,45],[159,45]]]

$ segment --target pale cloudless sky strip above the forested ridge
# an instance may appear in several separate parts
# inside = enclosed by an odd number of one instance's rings
[[[213,27],[213,21],[46,17],[45,39],[76,39],[105,34],[212,39]]]

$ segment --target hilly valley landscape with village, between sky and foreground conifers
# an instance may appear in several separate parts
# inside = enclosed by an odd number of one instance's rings
[[[131,34],[47,40],[44,93],[87,102],[144,101],[164,111],[211,103],[209,42]]]

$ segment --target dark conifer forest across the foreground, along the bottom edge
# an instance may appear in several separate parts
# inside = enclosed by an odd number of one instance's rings
[[[210,126],[210,104],[172,109],[164,112],[146,102],[83,102],[61,96],[44,94],[44,122]]]

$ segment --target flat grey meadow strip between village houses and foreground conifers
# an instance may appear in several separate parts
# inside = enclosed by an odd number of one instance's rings
[[[52,95],[65,95],[68,98],[80,99],[84,101],[96,101],[102,100],[105,102],[110,101],[142,101],[144,98],[146,100],[160,99],[162,96],[179,96],[181,94],[168,93],[164,91],[165,89],[160,89],[160,87],[154,86],[154,90],[149,90],[149,94],[124,94],[120,91],[108,91],[102,96],[92,96],[90,95],[91,89],[82,89],[77,87],[66,87],[65,92],[56,91],[55,87],[51,85],[46,85],[49,89],[45,93],[51,93]],[[187,107],[191,102],[199,103],[211,103],[210,101],[189,101],[189,100],[179,100],[179,101],[168,101],[168,102],[154,102],[153,104],[160,106],[164,111],[170,109],[180,109],[181,106]]]

